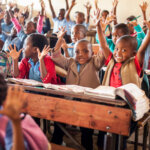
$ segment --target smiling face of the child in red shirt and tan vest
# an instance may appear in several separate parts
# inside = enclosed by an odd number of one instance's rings
[[[117,63],[123,63],[134,56],[134,51],[127,42],[119,41],[116,43],[113,56]]]

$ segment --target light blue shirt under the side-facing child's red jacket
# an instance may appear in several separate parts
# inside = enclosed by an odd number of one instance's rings
[[[41,73],[39,70],[40,62],[38,61],[36,64],[34,64],[31,58],[29,59],[28,62],[31,64],[30,71],[29,71],[29,79],[42,82],[41,77],[40,77]]]

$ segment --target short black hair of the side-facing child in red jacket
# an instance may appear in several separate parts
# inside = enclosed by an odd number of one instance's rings
[[[30,38],[32,46],[39,48],[40,52],[42,52],[45,45],[48,45],[47,38],[42,34],[32,33],[28,36],[28,38]]]

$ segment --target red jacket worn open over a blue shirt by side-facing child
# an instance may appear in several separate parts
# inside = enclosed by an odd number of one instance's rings
[[[21,60],[21,63],[19,65],[19,76],[17,78],[29,78],[29,71],[30,71],[30,67],[31,64],[28,62],[29,59],[28,58],[23,58]],[[47,70],[47,75],[45,78],[41,78],[43,83],[53,83],[53,84],[57,84],[57,76],[56,76],[56,71],[55,71],[55,65],[54,62],[51,60],[50,56],[45,56],[44,58],[44,63],[45,63],[45,67]],[[40,67],[39,67],[40,70]]]

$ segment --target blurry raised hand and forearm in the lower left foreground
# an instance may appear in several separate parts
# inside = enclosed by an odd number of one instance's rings
[[[23,133],[21,129],[20,113],[24,103],[24,94],[19,87],[9,87],[3,110],[0,114],[6,115],[12,121],[13,145],[12,150],[25,150]]]

